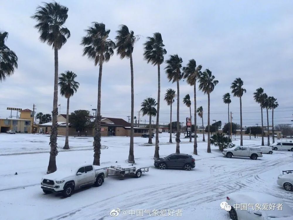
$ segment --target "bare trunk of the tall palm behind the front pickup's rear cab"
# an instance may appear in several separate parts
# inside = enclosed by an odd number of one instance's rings
[[[101,155],[101,90],[102,90],[102,71],[103,71],[103,53],[100,53],[99,63],[99,79],[98,79],[98,105],[97,105],[97,117],[95,120],[95,136],[93,138],[94,154],[93,165],[100,166]]]

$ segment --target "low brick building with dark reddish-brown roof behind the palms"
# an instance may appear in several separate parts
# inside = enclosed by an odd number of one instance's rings
[[[92,118],[94,121],[94,118]],[[57,116],[58,123],[58,135],[65,135],[66,132],[66,114],[59,114]],[[130,136],[131,124],[123,119],[102,117],[101,120],[101,136]],[[44,124],[40,124],[38,128],[39,133],[51,134],[52,121]],[[134,127],[134,137],[141,137],[143,133],[147,133],[147,128]],[[74,128],[69,123],[68,129],[69,136],[77,136],[78,129]],[[83,131],[79,131],[79,135],[94,136],[94,128],[86,128]]]

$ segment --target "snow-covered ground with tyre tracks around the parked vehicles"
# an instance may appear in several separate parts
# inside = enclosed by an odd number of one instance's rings
[[[167,144],[168,133],[160,134],[160,156],[175,153],[176,143]],[[207,138],[207,136],[206,136]],[[131,166],[126,163],[129,137],[103,137],[101,167]],[[90,220],[112,219],[110,211],[127,210],[114,219],[162,219],[149,216],[153,210],[169,210],[168,219],[230,219],[220,202],[235,191],[265,192],[282,198],[293,208],[293,192],[276,184],[282,170],[293,170],[293,152],[274,151],[258,160],[225,158],[213,145],[198,140],[198,155],[192,171],[158,170],[153,167],[154,146],[147,138],[134,138],[136,167],[150,167],[141,178],[108,177],[101,187],[87,187],[64,199],[60,194],[45,195],[40,180],[49,160],[49,136],[39,134],[0,134],[0,219],[1,220]],[[233,137],[234,140],[234,137]],[[266,139],[265,139],[266,140]],[[63,150],[64,137],[58,137],[57,167],[71,163],[92,163],[92,137],[70,137],[70,150]],[[153,142],[154,142],[153,138]],[[175,137],[173,136],[173,141]],[[181,139],[180,152],[193,153],[193,143]],[[233,141],[240,144],[239,137]],[[244,136],[244,145],[260,145],[261,138]],[[116,163],[117,161],[117,163]],[[15,172],[18,175],[14,175]],[[178,209],[182,210],[179,217]],[[136,216],[143,210],[143,216]],[[173,210],[175,210],[173,212]],[[135,212],[133,216],[130,213]],[[160,215],[160,211],[159,211]],[[167,213],[168,215],[168,213]],[[173,215],[173,216],[172,216]]]

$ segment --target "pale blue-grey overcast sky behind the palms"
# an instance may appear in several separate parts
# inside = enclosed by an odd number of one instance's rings
[[[70,99],[69,112],[91,110],[97,105],[98,66],[82,56],[81,37],[91,22],[103,22],[114,40],[120,24],[135,35],[134,45],[134,115],[146,97],[157,99],[157,67],[143,59],[147,36],[160,32],[169,55],[178,53],[185,66],[195,59],[203,69],[209,68],[219,84],[211,93],[211,120],[228,121],[228,106],[222,102],[236,77],[244,81],[247,93],[242,98],[243,127],[260,124],[260,107],[253,92],[263,87],[268,96],[277,98],[275,124],[292,123],[293,69],[293,2],[292,1],[59,1],[69,8],[65,25],[71,32],[59,50],[59,73],[71,70],[77,74],[80,87]],[[0,30],[9,33],[7,46],[18,56],[18,69],[0,84],[0,117],[10,116],[6,107],[33,109],[51,113],[54,86],[54,50],[38,39],[35,21],[30,18],[41,1],[1,1]],[[161,67],[160,122],[170,120],[170,107],[163,100],[166,89],[176,90]],[[128,121],[130,115],[130,61],[115,54],[103,65],[103,117]],[[193,87],[180,81],[180,122],[189,116],[183,105],[186,94],[193,97]],[[61,113],[66,114],[66,99],[58,96]],[[192,100],[193,103],[193,100]],[[176,102],[173,121],[176,121]],[[197,106],[203,106],[207,123],[207,95],[197,91]],[[239,98],[232,97],[233,122],[240,123]],[[194,109],[192,109],[194,112]],[[92,114],[92,111],[91,111]],[[193,114],[193,113],[192,113]],[[16,116],[16,112],[13,113]],[[271,121],[271,111],[269,112]],[[140,117],[143,121],[148,116]],[[266,114],[264,111],[264,119]],[[155,118],[152,119],[155,121]],[[201,120],[197,117],[197,124]],[[141,122],[142,123],[142,122]]]

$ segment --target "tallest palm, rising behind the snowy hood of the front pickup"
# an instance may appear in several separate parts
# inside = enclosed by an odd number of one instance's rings
[[[40,41],[47,43],[54,48],[54,96],[53,96],[53,123],[50,136],[50,159],[47,173],[57,170],[56,156],[57,150],[57,115],[58,115],[58,50],[67,42],[70,37],[70,31],[64,26],[68,17],[68,8],[57,2],[44,3],[44,7],[38,6],[35,14],[32,16],[38,23],[35,28],[40,33]]]

